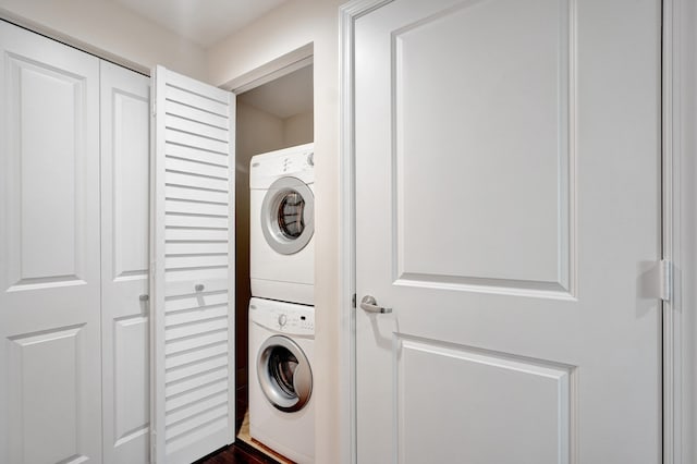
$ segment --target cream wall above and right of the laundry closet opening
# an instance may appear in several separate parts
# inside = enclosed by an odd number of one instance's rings
[[[222,85],[307,44],[315,83],[316,462],[338,462],[339,424],[339,5],[292,0],[208,50]]]

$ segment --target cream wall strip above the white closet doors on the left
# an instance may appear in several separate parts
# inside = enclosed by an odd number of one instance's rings
[[[207,81],[204,50],[106,0],[0,0],[0,17],[149,74],[162,64]]]

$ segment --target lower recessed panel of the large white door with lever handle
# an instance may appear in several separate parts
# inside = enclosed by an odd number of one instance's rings
[[[493,462],[504,462],[511,448],[518,450],[519,462],[540,462],[527,455],[534,448],[537,456],[546,456],[543,462],[568,464],[568,456],[578,442],[575,366],[401,333],[394,335],[392,347],[398,366],[393,382],[398,401],[394,442],[398,462],[484,462],[484,455],[491,457],[486,454],[491,448],[499,448],[501,453]],[[433,366],[444,368],[452,377],[431,381],[424,373]],[[457,375],[462,374],[468,374],[467,382],[457,381]],[[452,398],[453,401],[447,408],[440,408],[433,407],[432,402],[412,401],[411,395]],[[419,417],[429,417],[431,427],[406,420],[404,406],[407,404],[417,408]],[[482,407],[491,411],[486,422],[452,429],[440,420],[452,415],[466,417]],[[511,427],[515,420],[535,426],[521,432]],[[463,447],[456,455],[449,455],[447,449],[439,445],[443,441],[457,442],[462,437],[467,437],[474,445]],[[500,447],[500,443],[506,444]],[[543,452],[529,443],[539,443]]]

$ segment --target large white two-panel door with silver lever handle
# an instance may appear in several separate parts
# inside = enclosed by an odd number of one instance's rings
[[[355,22],[359,463],[657,463],[660,1]]]

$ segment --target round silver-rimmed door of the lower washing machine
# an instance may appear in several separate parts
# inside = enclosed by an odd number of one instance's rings
[[[259,349],[257,377],[261,391],[278,410],[299,411],[313,394],[313,370],[303,350],[283,335],[270,337]]]

